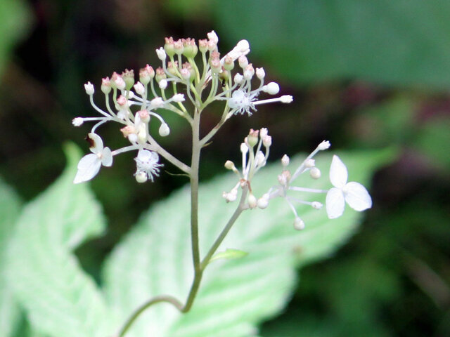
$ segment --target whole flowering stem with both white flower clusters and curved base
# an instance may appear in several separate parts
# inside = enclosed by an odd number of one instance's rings
[[[226,161],[225,168],[236,173],[236,185],[231,190],[223,192],[227,203],[237,201],[236,211],[223,224],[223,230],[210,246],[205,256],[200,256],[198,223],[198,169],[200,152],[209,143],[221,126],[231,118],[250,117],[257,111],[257,106],[266,103],[291,103],[291,95],[278,95],[279,86],[275,82],[265,83],[263,68],[254,68],[248,61],[250,52],[248,41],[242,40],[228,53],[220,54],[217,43],[219,38],[212,31],[207,39],[201,39],[198,44],[194,39],[165,39],[165,46],[158,48],[156,53],[162,65],[156,70],[146,65],[139,70],[139,81],[134,78],[132,70],[122,74],[114,72],[101,82],[104,95],[104,108],[94,103],[94,86],[84,84],[91,105],[98,113],[96,117],[77,117],[73,119],[74,126],[82,126],[86,121],[94,121],[94,126],[88,133],[90,154],[82,157],[77,166],[74,183],[91,180],[100,171],[101,166],[112,166],[113,158],[123,152],[135,151],[136,172],[134,177],[138,183],[153,182],[160,176],[161,157],[164,161],[176,166],[189,177],[191,185],[191,246],[194,277],[186,300],[172,296],[157,296],[150,298],[140,308],[131,312],[127,322],[124,322],[117,336],[124,336],[129,327],[139,317],[141,312],[155,303],[172,303],[180,312],[188,312],[198,293],[203,272],[214,258],[219,245],[236,223],[243,211],[266,209],[271,199],[283,198],[293,211],[295,230],[305,226],[301,216],[296,211],[296,204],[308,204],[314,209],[322,209],[319,201],[304,200],[296,196],[298,192],[326,193],[325,209],[328,218],[338,218],[342,215],[345,204],[356,211],[364,211],[372,205],[371,197],[366,188],[356,182],[347,182],[347,168],[338,156],[333,156],[330,165],[329,190],[316,190],[295,185],[297,177],[309,174],[312,179],[321,178],[321,171],[316,167],[314,156],[323,150],[328,150],[330,143],[324,140],[307,156],[300,166],[290,169],[289,157],[281,158],[281,172],[274,177],[274,185],[262,195],[255,195],[252,181],[258,171],[263,169],[269,158],[272,144],[267,128],[251,129],[240,144],[242,163],[240,169],[232,161]],[[260,96],[264,99],[259,99]],[[269,98],[266,98],[269,96]],[[275,97],[274,97],[275,96]],[[211,130],[200,134],[200,123],[203,114],[208,113],[207,107],[215,102],[223,103],[224,110],[217,125]],[[158,137],[170,134],[169,125],[160,112],[173,113],[186,119],[192,130],[191,162],[184,163],[165,150]],[[102,124],[114,121],[120,124],[120,132],[125,138],[125,145],[117,150],[110,150],[103,145],[98,129]],[[150,124],[158,125],[158,134],[150,133]],[[153,128],[152,128],[153,129]],[[221,191],[217,191],[221,193]],[[189,225],[186,223],[186,225]],[[233,252],[231,252],[233,253]],[[226,254],[225,254],[226,255]],[[221,253],[224,256],[224,253]],[[217,256],[216,256],[217,257]]]

